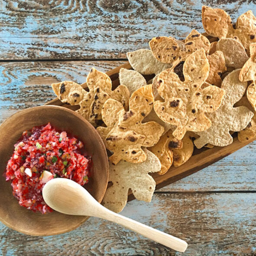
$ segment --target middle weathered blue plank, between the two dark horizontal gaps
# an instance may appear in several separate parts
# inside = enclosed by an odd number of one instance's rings
[[[55,95],[50,84],[85,82],[95,66],[107,71],[124,62],[10,62],[0,64],[0,122],[20,109],[43,105]],[[256,142],[160,191],[255,190]]]

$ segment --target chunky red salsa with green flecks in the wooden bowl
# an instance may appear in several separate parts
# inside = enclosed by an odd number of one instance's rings
[[[91,157],[81,153],[83,143],[66,131],[49,123],[34,127],[24,131],[14,147],[5,177],[12,181],[14,197],[29,210],[53,211],[42,196],[44,184],[53,178],[68,178],[82,186],[88,182]]]

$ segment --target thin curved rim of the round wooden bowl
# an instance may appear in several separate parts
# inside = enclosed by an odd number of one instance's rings
[[[25,109],[22,109],[16,113],[14,113],[13,115],[10,115],[8,118],[6,118],[1,124],[0,124],[0,129],[1,127],[3,126],[3,124],[5,124],[7,121],[10,121],[11,119],[15,119],[16,116],[19,116],[20,113],[24,113],[24,112],[30,112],[30,111],[34,111],[38,108],[53,108],[53,109],[58,109],[58,110],[61,110],[61,111],[66,111],[66,112],[69,112],[71,113],[72,115],[74,115],[76,118],[79,118],[81,121],[83,121],[86,125],[88,125],[89,127],[93,128],[95,130],[95,135],[99,138],[99,142],[102,146],[102,148],[105,148],[105,145],[104,145],[104,142],[102,140],[102,138],[100,137],[100,135],[98,134],[98,132],[96,131],[95,127],[88,121],[86,120],[85,118],[83,118],[81,115],[79,115],[78,113],[76,113],[75,111],[69,109],[69,108],[65,108],[63,106],[58,106],[58,105],[42,105],[42,106],[36,106],[36,107],[31,107],[31,108],[25,108]],[[105,161],[105,164],[107,166],[107,177],[109,177],[109,168],[108,168],[108,155],[107,155],[107,151],[105,149],[105,157],[104,157],[104,161]],[[104,193],[102,193],[102,196],[101,198],[98,200],[99,203],[102,202],[103,200],[103,197],[105,195],[105,192],[107,190],[107,187],[108,187],[108,182],[106,182],[106,185],[105,185],[105,188],[104,188]],[[36,214],[36,213],[35,213]],[[16,228],[16,226],[13,226],[11,225],[10,223],[7,223],[3,217],[0,216],[0,221],[7,227],[11,228],[12,230],[15,230],[17,232],[20,232],[20,233],[23,233],[23,234],[26,234],[26,235],[30,235],[30,236],[54,236],[54,235],[59,235],[59,234],[63,234],[63,233],[68,233],[72,230],[75,230],[77,229],[79,226],[82,225],[82,223],[84,223],[86,220],[89,219],[89,216],[84,216],[84,219],[79,222],[77,225],[75,226],[72,226],[71,228],[68,228],[68,229],[64,229],[64,230],[60,230],[58,232],[52,232],[52,233],[47,233],[47,234],[39,234],[39,233],[31,233],[31,232],[26,232],[25,230],[19,230],[18,228]]]

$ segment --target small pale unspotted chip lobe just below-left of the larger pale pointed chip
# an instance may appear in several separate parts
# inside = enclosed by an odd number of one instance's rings
[[[119,71],[120,85],[125,85],[130,94],[144,85],[147,85],[146,79],[139,72],[130,69],[121,68]]]

